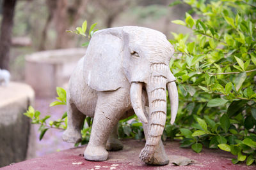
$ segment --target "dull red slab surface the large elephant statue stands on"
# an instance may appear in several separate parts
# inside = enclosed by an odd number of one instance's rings
[[[109,152],[109,159],[103,162],[84,160],[85,147],[81,146],[12,164],[2,169],[256,169],[255,165],[232,164],[231,159],[235,156],[228,152],[203,148],[201,153],[195,153],[191,149],[180,148],[178,141],[164,142],[164,148],[170,161],[183,156],[195,160],[197,164],[148,166],[141,162],[138,156],[144,142],[125,139],[123,141],[124,150]]]

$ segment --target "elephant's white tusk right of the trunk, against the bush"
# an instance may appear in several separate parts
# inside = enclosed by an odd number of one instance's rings
[[[178,106],[179,106],[179,96],[178,96],[178,90],[175,81],[171,81],[167,84],[167,89],[169,93],[169,99],[171,103],[171,124],[174,123]]]

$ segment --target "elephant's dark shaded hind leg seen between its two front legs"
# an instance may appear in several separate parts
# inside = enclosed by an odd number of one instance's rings
[[[111,134],[106,144],[106,150],[108,151],[122,150],[124,146],[122,145],[121,141],[118,140],[117,134],[118,134],[118,123],[114,126],[113,130],[111,131]]]

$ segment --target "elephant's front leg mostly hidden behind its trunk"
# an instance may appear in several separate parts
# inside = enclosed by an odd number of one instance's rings
[[[148,107],[145,107],[145,111],[146,114],[145,116],[147,117],[147,120],[149,122],[149,111],[148,111]],[[147,140],[147,136],[148,136],[148,124],[143,124],[143,129],[144,129],[144,134]],[[152,158],[151,162],[147,162],[147,164],[151,164],[151,165],[167,165],[169,164],[169,158],[168,155],[166,155],[165,151],[164,151],[164,145],[162,140],[159,140],[159,143],[156,145],[155,150],[154,150],[154,155]]]

